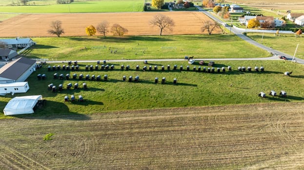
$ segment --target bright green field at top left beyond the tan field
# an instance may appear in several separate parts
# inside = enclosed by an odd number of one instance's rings
[[[30,4],[33,2],[30,1]],[[9,13],[95,13],[143,11],[142,0],[75,1],[70,4],[35,3],[27,6],[0,6],[0,12]]]

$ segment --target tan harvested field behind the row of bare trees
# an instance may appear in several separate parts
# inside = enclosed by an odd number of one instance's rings
[[[50,23],[54,20],[62,21],[65,31],[63,36],[86,35],[85,27],[89,25],[96,27],[102,20],[107,20],[110,26],[114,23],[122,25],[128,29],[127,35],[157,35],[160,32],[159,28],[149,25],[149,21],[156,14],[171,17],[175,22],[173,31],[163,34],[202,34],[202,24],[209,19],[201,12],[21,14],[0,23],[0,36],[53,36],[48,34],[47,30],[50,29]],[[222,30],[218,29],[214,33],[222,33]],[[97,33],[97,35],[100,34]]]

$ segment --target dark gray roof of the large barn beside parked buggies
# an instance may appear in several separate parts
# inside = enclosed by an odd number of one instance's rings
[[[0,77],[18,80],[20,76],[35,63],[36,60],[20,57],[0,68]]]

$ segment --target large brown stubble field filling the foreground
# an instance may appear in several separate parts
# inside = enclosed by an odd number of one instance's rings
[[[2,119],[0,169],[303,169],[303,110],[281,102]]]

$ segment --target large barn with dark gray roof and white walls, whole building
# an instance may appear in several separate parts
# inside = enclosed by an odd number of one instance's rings
[[[36,70],[36,60],[20,57],[0,68],[0,84],[24,82]]]

